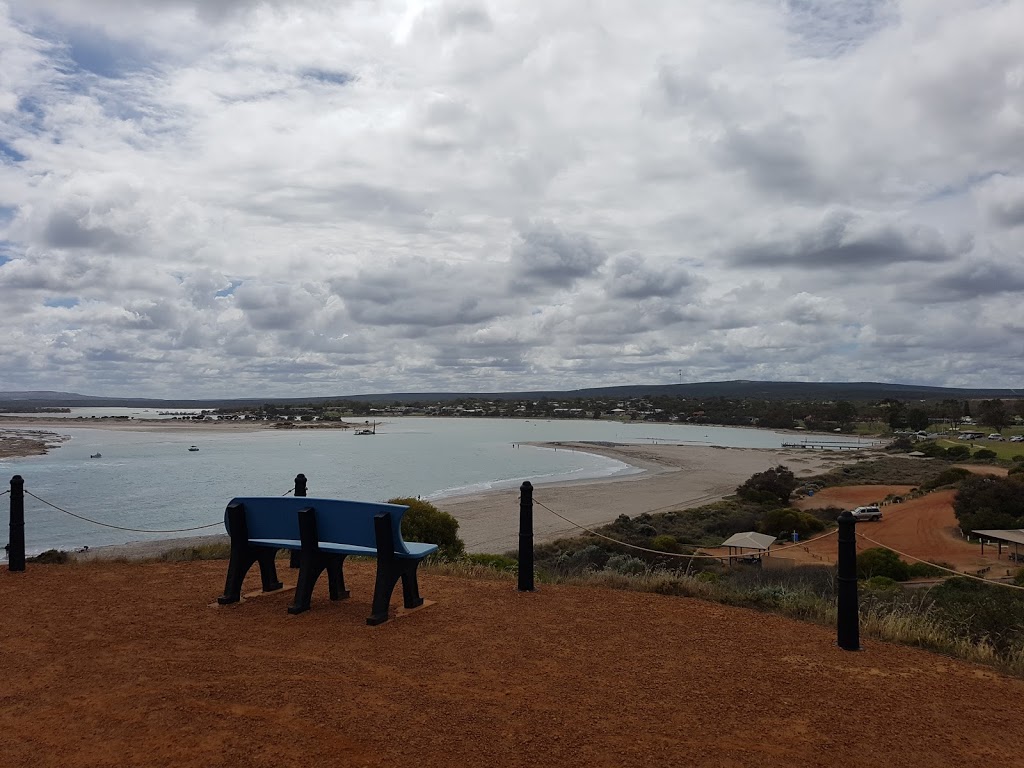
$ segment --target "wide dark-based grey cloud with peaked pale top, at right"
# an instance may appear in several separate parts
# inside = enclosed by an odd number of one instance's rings
[[[905,261],[948,261],[966,250],[950,248],[935,229],[888,221],[868,221],[848,211],[834,211],[820,224],[775,242],[736,248],[734,266],[798,266],[807,269],[856,269]]]

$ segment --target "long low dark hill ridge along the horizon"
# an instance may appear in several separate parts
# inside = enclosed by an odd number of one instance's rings
[[[569,398],[626,398],[640,396],[675,397],[729,397],[733,399],[766,400],[855,400],[878,401],[886,398],[899,400],[991,399],[1004,397],[1017,399],[1020,394],[1012,389],[955,389],[951,387],[926,387],[914,384],[885,384],[880,382],[805,382],[805,381],[712,381],[693,384],[628,384],[612,387],[590,387],[572,390],[532,390],[525,392],[388,392],[323,397],[242,397],[210,399],[155,399],[144,397],[99,397],[76,392],[28,391],[0,392],[0,410],[18,408],[229,408],[264,402],[280,404],[323,403],[335,400],[361,400],[365,402],[439,402],[474,397],[487,400]]]

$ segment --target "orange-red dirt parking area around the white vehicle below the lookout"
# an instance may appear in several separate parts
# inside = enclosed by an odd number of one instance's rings
[[[905,494],[909,489],[909,485],[829,487],[811,498],[801,499],[797,506],[801,509],[829,506],[850,509],[861,504],[879,502],[888,494]],[[949,564],[965,572],[975,573],[989,568],[986,572],[990,577],[1009,575],[1019,568],[1019,565],[1007,558],[1006,552],[998,558],[994,549],[986,547],[985,556],[982,557],[981,546],[977,542],[968,542],[961,537],[953,514],[954,495],[954,490],[939,490],[903,504],[890,504],[884,507],[880,522],[857,524],[858,551],[881,544],[922,560]],[[801,561],[835,563],[836,537],[825,537],[804,546],[793,547],[780,552],[779,555]]]

